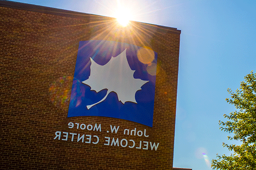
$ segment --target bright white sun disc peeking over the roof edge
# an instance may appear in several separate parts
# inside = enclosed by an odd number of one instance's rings
[[[128,9],[119,7],[116,11],[115,18],[121,26],[125,27],[129,24],[129,21],[131,20],[131,13],[128,11]]]

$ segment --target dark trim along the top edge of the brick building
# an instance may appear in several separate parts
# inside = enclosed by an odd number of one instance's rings
[[[14,1],[9,1],[9,0],[0,0],[0,7],[15,8],[15,9],[26,10],[26,11],[34,11],[34,12],[40,12],[40,13],[45,13],[45,14],[59,15],[62,17],[83,18],[85,16],[90,16],[90,17],[102,18],[104,20],[115,19],[113,17],[106,17],[106,16],[102,16],[102,15],[87,14],[87,13],[83,13],[83,12],[70,11],[70,10],[66,10],[66,9],[52,8],[52,7],[47,7],[47,6],[39,6],[39,5],[33,5],[33,4],[28,4],[28,3],[20,3],[20,2],[14,2]],[[172,28],[172,27],[168,27],[168,26],[160,26],[160,25],[150,24],[150,23],[142,23],[142,22],[137,22],[137,21],[132,21],[132,22],[146,24],[148,26],[157,26],[158,28],[173,31],[176,34],[181,33],[181,31],[178,30],[177,28]]]

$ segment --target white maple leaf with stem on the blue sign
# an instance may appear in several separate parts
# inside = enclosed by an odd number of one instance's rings
[[[125,102],[134,102],[135,93],[141,90],[141,86],[146,82],[142,79],[134,79],[134,71],[131,70],[126,59],[126,49],[116,57],[111,57],[110,61],[105,65],[99,65],[90,58],[90,76],[89,79],[82,83],[89,85],[91,90],[97,93],[103,89],[108,89],[105,97],[93,105],[87,105],[87,109],[104,101],[108,94],[112,91],[116,92],[118,99],[123,104]]]

